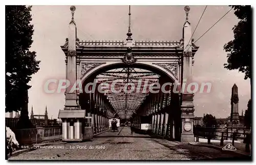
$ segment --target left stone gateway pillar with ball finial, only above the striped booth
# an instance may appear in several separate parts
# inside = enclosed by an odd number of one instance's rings
[[[71,87],[76,83],[77,77],[77,61],[76,61],[76,23],[74,20],[74,13],[76,7],[71,6],[70,11],[72,14],[71,21],[69,23],[69,37],[68,37],[68,52],[67,52],[67,73],[66,79],[70,81],[70,86],[66,89],[66,104],[65,108],[68,109],[77,109],[77,93],[76,91],[71,91]]]

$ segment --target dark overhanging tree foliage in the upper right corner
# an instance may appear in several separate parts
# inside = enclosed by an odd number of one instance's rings
[[[224,64],[224,68],[239,69],[239,72],[245,73],[245,80],[247,78],[251,80],[251,7],[231,7],[240,21],[232,28],[234,39],[224,45],[224,50],[227,52],[227,63]]]

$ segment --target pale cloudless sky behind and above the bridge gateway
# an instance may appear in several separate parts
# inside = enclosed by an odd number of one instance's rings
[[[131,6],[131,22],[134,40],[179,41],[185,22],[184,6]],[[192,31],[205,6],[190,6],[189,22]],[[125,40],[128,27],[128,6],[76,6],[74,19],[80,40]],[[228,6],[207,6],[206,11],[193,35],[195,41],[219,20],[230,8]],[[71,20],[70,6],[33,6],[34,25],[31,51],[40,60],[39,71],[32,76],[29,89],[29,115],[31,106],[34,114],[44,114],[47,106],[48,117],[54,119],[63,109],[63,93],[45,93],[44,83],[52,78],[66,77],[65,54],[60,46],[68,37]],[[211,82],[210,93],[195,93],[195,116],[210,113],[216,118],[230,115],[231,88],[234,83],[239,92],[239,114],[247,108],[250,99],[250,81],[238,70],[227,70],[225,43],[233,39],[232,28],[238,23],[231,10],[196,45],[193,79],[196,82]]]

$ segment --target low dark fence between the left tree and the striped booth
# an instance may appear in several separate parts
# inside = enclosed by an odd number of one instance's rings
[[[33,128],[14,130],[20,145],[37,144],[44,141],[59,140],[62,138],[62,128]]]

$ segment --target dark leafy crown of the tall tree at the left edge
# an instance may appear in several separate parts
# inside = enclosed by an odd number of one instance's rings
[[[6,112],[18,111],[28,103],[31,75],[39,70],[30,24],[31,6],[6,6]]]

